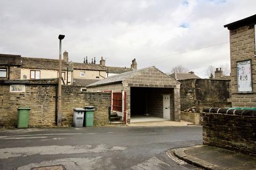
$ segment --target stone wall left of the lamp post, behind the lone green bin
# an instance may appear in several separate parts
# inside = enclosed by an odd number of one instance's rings
[[[25,92],[10,92],[11,84],[25,84]],[[55,124],[56,83],[44,81],[0,82],[0,125],[17,126],[17,108],[30,107],[29,126],[52,126]]]

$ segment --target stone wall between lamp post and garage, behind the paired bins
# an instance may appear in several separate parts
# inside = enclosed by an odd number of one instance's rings
[[[110,104],[110,93],[104,92],[82,92],[80,86],[62,86],[62,118],[63,125],[73,125],[73,108],[94,106],[94,124],[108,124],[108,107]]]

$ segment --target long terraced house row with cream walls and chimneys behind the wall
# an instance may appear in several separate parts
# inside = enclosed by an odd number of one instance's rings
[[[88,84],[105,79],[114,74],[137,69],[135,59],[131,68],[106,66],[101,57],[100,64],[94,61],[84,63],[68,61],[68,52],[63,53],[62,84]],[[0,54],[0,80],[51,79],[59,76],[59,60],[49,58],[21,57],[20,55]],[[85,88],[86,89],[86,88]]]

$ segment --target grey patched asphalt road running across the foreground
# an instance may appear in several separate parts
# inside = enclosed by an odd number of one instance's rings
[[[186,169],[166,151],[202,144],[202,127],[2,130],[0,143],[0,169]]]

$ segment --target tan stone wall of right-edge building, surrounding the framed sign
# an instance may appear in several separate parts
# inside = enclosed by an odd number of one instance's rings
[[[256,57],[254,24],[245,25],[229,31],[230,35],[230,65],[231,65],[231,94],[233,107],[256,106]],[[237,62],[251,60],[252,90],[250,94],[238,94]]]

